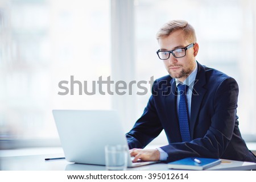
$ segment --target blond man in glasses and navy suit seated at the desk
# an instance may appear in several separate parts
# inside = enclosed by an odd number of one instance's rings
[[[238,128],[237,82],[196,61],[199,44],[191,24],[172,20],[156,39],[156,53],[169,75],[155,80],[141,118],[126,134],[134,162],[187,157],[256,162]],[[168,144],[144,150],[162,130]]]

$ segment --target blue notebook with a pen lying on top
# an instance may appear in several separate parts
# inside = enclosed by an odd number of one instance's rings
[[[184,158],[168,163],[170,169],[204,170],[221,163],[221,159]]]

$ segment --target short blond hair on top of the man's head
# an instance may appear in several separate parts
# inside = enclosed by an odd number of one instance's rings
[[[156,39],[160,39],[169,36],[172,32],[177,30],[183,30],[187,39],[191,39],[192,42],[196,42],[195,29],[185,20],[171,20],[164,24],[156,34]]]

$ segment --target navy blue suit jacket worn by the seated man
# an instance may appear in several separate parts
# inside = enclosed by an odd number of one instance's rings
[[[167,152],[167,162],[186,157],[256,162],[238,128],[236,80],[197,64],[189,119],[191,142],[181,141],[175,79],[168,75],[154,82],[144,113],[126,134],[129,148],[144,148],[164,130],[169,144],[160,148]]]

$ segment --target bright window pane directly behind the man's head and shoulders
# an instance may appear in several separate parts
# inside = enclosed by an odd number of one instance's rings
[[[171,19],[185,19],[196,30],[197,61],[235,78],[240,86],[237,114],[242,134],[256,135],[255,3],[253,1],[135,1],[137,78],[167,75],[156,51],[155,34]],[[138,96],[139,116],[148,96]],[[166,137],[163,136],[162,139]],[[160,141],[159,141],[160,142]]]

